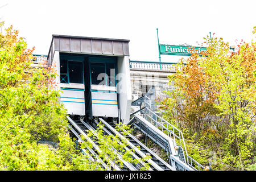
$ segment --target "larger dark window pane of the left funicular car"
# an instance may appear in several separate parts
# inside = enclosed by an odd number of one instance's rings
[[[83,84],[82,62],[68,61],[69,82]]]

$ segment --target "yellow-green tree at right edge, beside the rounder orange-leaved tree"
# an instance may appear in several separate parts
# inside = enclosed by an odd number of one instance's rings
[[[241,43],[238,52],[230,53],[228,43],[222,39],[214,39],[211,44],[201,67],[205,68],[209,84],[218,91],[214,107],[228,123],[224,162],[243,170],[255,155],[256,45]]]

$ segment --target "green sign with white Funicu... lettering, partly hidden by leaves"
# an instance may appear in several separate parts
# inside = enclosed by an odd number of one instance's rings
[[[161,55],[191,56],[192,52],[200,53],[207,51],[205,47],[173,46],[159,44]]]

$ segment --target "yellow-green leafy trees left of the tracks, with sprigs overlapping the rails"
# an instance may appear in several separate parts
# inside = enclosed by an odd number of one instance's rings
[[[75,148],[54,89],[56,73],[46,65],[31,68],[33,51],[12,26],[0,34],[0,169],[105,170]],[[107,154],[102,160],[122,162],[113,158],[111,147],[122,151],[126,145],[103,135],[101,127],[97,135]],[[131,160],[129,152],[122,158]]]

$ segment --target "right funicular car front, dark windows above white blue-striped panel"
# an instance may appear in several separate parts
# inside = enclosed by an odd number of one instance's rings
[[[114,57],[89,57],[90,94],[94,117],[118,117],[116,63]]]

